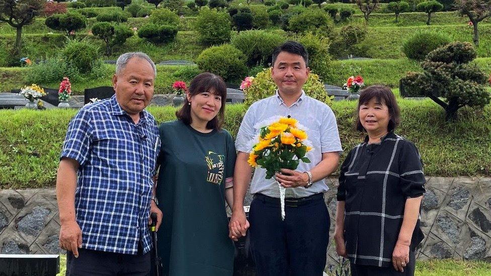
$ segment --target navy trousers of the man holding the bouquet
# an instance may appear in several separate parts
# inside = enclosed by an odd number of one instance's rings
[[[323,195],[297,207],[258,194],[251,203],[251,253],[258,276],[322,275],[329,242],[329,213]]]

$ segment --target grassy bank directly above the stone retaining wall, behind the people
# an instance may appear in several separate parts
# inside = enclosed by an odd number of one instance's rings
[[[491,175],[491,106],[465,109],[460,121],[448,124],[432,101],[400,100],[402,122],[397,133],[420,149],[427,175]],[[347,152],[363,137],[353,129],[355,102],[335,102],[340,137]],[[149,107],[159,122],[173,120],[172,107]],[[225,128],[233,136],[243,105],[228,105]],[[0,189],[55,185],[58,156],[73,110],[0,111]]]

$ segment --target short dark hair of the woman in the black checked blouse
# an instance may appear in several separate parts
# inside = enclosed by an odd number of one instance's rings
[[[388,131],[393,131],[400,122],[400,110],[395,100],[395,96],[392,91],[384,85],[371,85],[361,90],[360,99],[358,100],[358,109],[356,114],[356,130],[365,131],[365,128],[360,122],[360,106],[365,105],[370,100],[374,99],[377,103],[381,103],[387,106],[389,110],[389,123],[387,126]]]

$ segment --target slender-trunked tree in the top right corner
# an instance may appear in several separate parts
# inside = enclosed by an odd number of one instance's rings
[[[490,0],[458,0],[455,3],[455,8],[461,16],[467,16],[472,22],[474,29],[474,45],[479,46],[479,30],[477,24],[482,20],[491,17],[491,1]]]

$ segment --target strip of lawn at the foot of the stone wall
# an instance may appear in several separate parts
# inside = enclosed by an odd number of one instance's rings
[[[64,276],[66,271],[66,255],[60,255],[60,273]],[[329,275],[329,274],[328,274]],[[483,261],[462,260],[430,260],[416,263],[415,276],[489,276],[491,263]],[[332,276],[332,275],[330,275]]]

